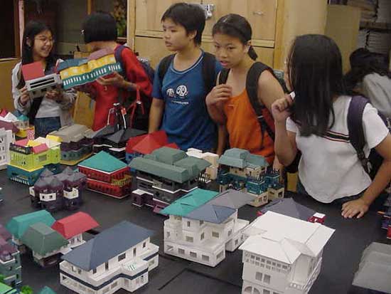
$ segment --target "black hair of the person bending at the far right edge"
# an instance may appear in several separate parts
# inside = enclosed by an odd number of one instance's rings
[[[373,53],[365,48],[358,48],[350,54],[350,71],[345,75],[346,86],[354,90],[358,83],[363,81],[365,75],[377,73],[391,78],[388,70],[388,58],[384,54]]]

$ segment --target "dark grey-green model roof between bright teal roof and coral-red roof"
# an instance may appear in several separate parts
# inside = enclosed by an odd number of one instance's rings
[[[68,244],[58,231],[43,223],[33,224],[23,234],[21,241],[33,252],[44,256]]]

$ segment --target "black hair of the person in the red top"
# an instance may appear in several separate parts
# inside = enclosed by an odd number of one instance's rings
[[[105,12],[97,11],[82,23],[84,42],[117,41],[117,23],[114,17]]]

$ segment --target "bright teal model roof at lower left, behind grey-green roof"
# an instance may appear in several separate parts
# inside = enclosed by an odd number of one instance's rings
[[[15,216],[11,221],[6,224],[6,229],[15,237],[20,239],[23,233],[32,224],[41,222],[47,226],[54,224],[55,219],[53,216],[45,210],[31,212],[30,214],[23,214],[21,216]]]

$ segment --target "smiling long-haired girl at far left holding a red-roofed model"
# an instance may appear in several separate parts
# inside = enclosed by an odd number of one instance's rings
[[[60,62],[53,56],[53,33],[44,23],[29,22],[23,32],[22,61],[12,70],[12,95],[15,108],[27,115],[36,128],[36,137],[45,137],[49,132],[72,122],[70,107],[75,102],[73,90],[49,90],[41,98],[31,99],[21,74],[22,65],[41,62],[45,74],[53,73]]]

